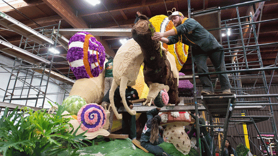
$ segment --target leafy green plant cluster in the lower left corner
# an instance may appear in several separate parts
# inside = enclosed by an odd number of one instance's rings
[[[58,105],[56,114],[48,114],[46,110],[34,111],[25,107],[8,114],[9,108],[6,107],[0,119],[0,152],[4,156],[40,156],[57,155],[68,149],[68,155],[75,155],[86,145],[82,140],[89,140],[85,139],[86,132],[76,135],[78,129],[66,131],[72,125],[68,123],[70,118],[63,118],[65,110],[65,105]]]

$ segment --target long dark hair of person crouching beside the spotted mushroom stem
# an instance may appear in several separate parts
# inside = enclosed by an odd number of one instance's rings
[[[151,143],[158,141],[160,121],[161,121],[160,115],[156,115],[153,119],[151,119],[151,130],[150,130],[150,138],[149,138],[149,142]]]

